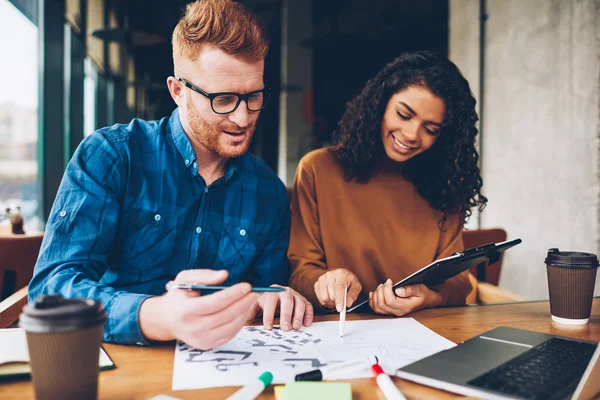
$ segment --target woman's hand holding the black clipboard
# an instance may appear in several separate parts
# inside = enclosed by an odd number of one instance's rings
[[[421,308],[434,308],[442,304],[442,295],[425,285],[411,285],[392,289],[388,279],[369,292],[369,305],[378,314],[392,314],[401,317]]]

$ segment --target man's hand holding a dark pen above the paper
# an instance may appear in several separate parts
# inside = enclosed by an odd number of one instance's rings
[[[227,271],[186,270],[177,283],[215,285],[227,279]],[[149,340],[180,339],[201,350],[231,340],[242,329],[255,307],[257,297],[248,283],[202,296],[198,291],[171,290],[145,300],[139,318]]]

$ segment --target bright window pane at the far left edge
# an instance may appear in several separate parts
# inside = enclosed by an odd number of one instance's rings
[[[36,232],[38,209],[38,28],[0,0],[0,225],[6,208],[21,208],[25,230]],[[2,227],[0,227],[2,228]],[[3,229],[2,229],[3,230]]]

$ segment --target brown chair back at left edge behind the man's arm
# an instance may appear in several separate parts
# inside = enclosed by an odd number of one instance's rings
[[[0,300],[29,284],[43,237],[0,236]]]

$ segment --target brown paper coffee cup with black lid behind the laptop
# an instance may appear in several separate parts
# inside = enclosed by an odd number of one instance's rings
[[[587,324],[598,270],[595,254],[548,250],[546,257],[550,314],[562,324]]]

